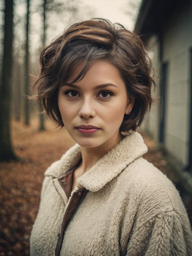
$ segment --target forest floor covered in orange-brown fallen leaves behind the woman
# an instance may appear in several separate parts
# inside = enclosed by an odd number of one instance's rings
[[[0,256],[29,255],[30,232],[35,221],[44,172],[75,142],[65,128],[56,128],[46,120],[46,131],[38,131],[38,121],[30,126],[12,122],[12,142],[21,161],[0,163]],[[142,134],[148,147],[144,155],[170,179],[174,179],[162,150],[155,150],[153,140]],[[192,201],[181,194],[192,221]]]

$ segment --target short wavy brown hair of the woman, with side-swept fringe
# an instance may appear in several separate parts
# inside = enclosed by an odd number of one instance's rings
[[[128,97],[135,98],[133,109],[129,115],[124,115],[119,130],[120,133],[135,131],[153,102],[152,63],[135,32],[107,19],[93,18],[74,23],[41,52],[41,72],[33,86],[33,98],[44,106],[45,113],[58,126],[64,126],[58,107],[60,84],[69,79],[79,63],[84,63],[72,83],[81,80],[90,64],[98,59],[105,59],[119,69]]]

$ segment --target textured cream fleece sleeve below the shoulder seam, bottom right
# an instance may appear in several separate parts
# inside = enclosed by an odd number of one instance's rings
[[[163,212],[133,228],[126,256],[191,256],[192,233],[188,218],[174,210]]]

